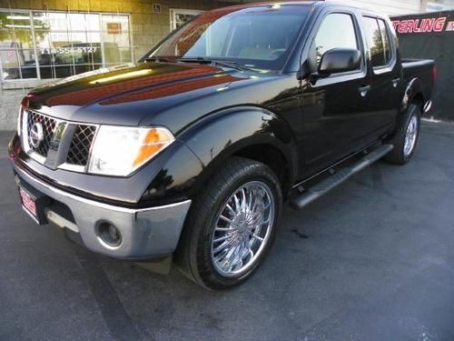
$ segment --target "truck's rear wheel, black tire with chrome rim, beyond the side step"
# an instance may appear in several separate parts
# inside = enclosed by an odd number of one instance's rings
[[[384,156],[391,164],[405,165],[415,153],[418,145],[421,109],[418,105],[409,105],[401,117],[395,135],[386,143],[394,145],[394,149]]]

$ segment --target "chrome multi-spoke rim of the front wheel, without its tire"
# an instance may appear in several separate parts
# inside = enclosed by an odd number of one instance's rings
[[[212,264],[222,276],[239,276],[262,254],[276,209],[270,186],[252,181],[222,206],[212,230]]]

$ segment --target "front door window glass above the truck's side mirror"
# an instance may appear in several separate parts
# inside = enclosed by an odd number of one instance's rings
[[[351,15],[335,13],[325,17],[315,36],[311,47],[312,59],[315,59],[315,63],[311,63],[312,67],[316,70],[321,56],[332,48],[339,47],[359,49]]]

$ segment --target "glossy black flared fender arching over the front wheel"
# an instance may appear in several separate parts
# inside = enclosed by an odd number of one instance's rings
[[[288,165],[286,182],[294,181],[298,165],[295,136],[286,121],[262,107],[236,106],[206,115],[186,127],[178,139],[202,162],[198,187],[224,160],[252,145],[278,149]]]

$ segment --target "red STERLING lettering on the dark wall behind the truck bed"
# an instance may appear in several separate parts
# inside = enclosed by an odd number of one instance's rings
[[[452,12],[399,16],[391,20],[399,35],[454,32],[454,15],[452,15]]]

